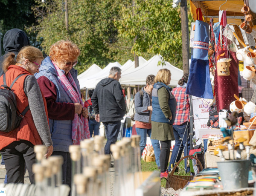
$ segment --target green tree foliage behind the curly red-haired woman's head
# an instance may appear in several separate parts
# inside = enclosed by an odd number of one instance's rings
[[[131,44],[117,44],[118,32],[113,18],[119,13],[118,1],[68,1],[68,30],[65,27],[64,1],[47,0],[41,3],[37,0],[37,3],[33,7],[37,25],[32,26],[30,32],[38,32],[37,40],[41,41],[46,54],[49,54],[50,46],[58,40],[69,39],[76,43],[81,50],[79,64],[76,66],[79,73],[93,63],[104,67],[109,62],[125,63],[128,58],[133,58]]]

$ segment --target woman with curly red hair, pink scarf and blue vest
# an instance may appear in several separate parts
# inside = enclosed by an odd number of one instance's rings
[[[49,57],[35,75],[47,101],[52,155],[63,156],[62,180],[68,185],[71,185],[69,146],[90,138],[88,112],[83,108],[77,70],[73,68],[79,55],[76,44],[60,40],[51,46]]]

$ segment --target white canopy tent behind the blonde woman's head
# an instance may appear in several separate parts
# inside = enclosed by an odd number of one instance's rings
[[[158,65],[158,62],[162,61],[161,55],[155,55],[148,60],[142,66],[139,66],[131,71],[122,72],[120,84],[121,85],[145,85],[146,77],[148,75],[157,75],[160,69],[169,69],[172,73],[172,79],[170,86],[176,86],[178,81],[183,76],[183,70],[171,65],[169,62],[164,62]]]

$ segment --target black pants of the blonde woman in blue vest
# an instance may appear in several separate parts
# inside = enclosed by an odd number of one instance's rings
[[[160,141],[161,152],[160,152],[160,170],[165,172],[167,170],[170,148],[172,140]]]

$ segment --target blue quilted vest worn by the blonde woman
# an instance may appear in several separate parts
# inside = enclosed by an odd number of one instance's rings
[[[166,88],[169,92],[169,107],[171,109],[172,112],[172,120],[169,122],[169,119],[165,117],[163,111],[160,108],[159,105],[159,100],[158,100],[158,93],[157,91],[160,88]],[[177,102],[176,99],[174,97],[174,95],[172,95],[172,88],[170,88],[169,86],[167,86],[166,84],[163,84],[162,82],[157,82],[154,84],[154,88],[152,91],[152,107],[153,107],[153,111],[152,111],[152,116],[151,116],[151,121],[154,122],[161,122],[161,123],[168,123],[168,124],[173,124],[175,117],[176,117],[176,107],[177,107]]]

